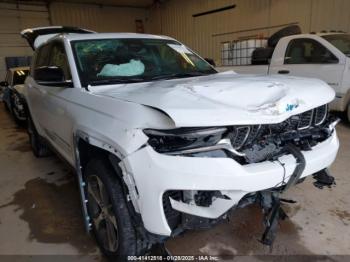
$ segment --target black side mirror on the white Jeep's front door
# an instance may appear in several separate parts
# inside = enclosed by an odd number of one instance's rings
[[[66,81],[62,68],[57,66],[42,66],[34,70],[34,79],[39,85],[46,86],[72,86]]]

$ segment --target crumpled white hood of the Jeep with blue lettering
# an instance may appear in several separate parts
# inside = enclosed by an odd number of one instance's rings
[[[335,96],[332,88],[317,79],[233,72],[95,86],[90,91],[161,110],[178,127],[278,123],[329,103]]]

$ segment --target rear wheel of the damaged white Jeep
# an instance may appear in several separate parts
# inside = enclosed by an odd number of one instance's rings
[[[27,132],[29,136],[29,142],[32,147],[34,156],[45,157],[50,155],[50,149],[45,144],[43,139],[39,136],[35,129],[33,120],[30,116],[27,117]]]

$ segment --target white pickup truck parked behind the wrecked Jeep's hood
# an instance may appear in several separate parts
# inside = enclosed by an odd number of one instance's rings
[[[239,74],[284,74],[321,79],[336,92],[331,110],[345,112],[350,121],[349,34],[295,34],[282,37],[273,48],[257,51],[256,57],[253,53],[252,65],[217,69],[232,69]]]

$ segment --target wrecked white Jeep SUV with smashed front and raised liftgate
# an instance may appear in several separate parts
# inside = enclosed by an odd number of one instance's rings
[[[163,36],[22,35],[35,49],[33,152],[50,145],[75,168],[86,228],[107,255],[144,254],[251,203],[266,214],[270,244],[285,216],[280,193],[309,175],[332,181],[334,91],[320,80],[217,73]]]

